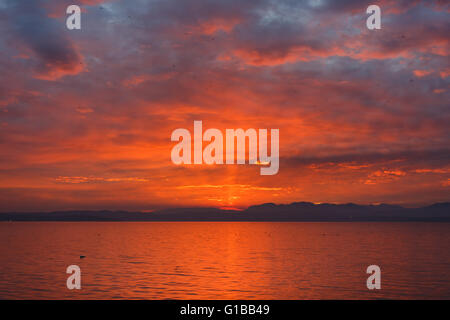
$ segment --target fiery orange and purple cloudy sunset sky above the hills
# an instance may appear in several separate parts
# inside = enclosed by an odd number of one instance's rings
[[[0,211],[449,201],[449,17],[438,0],[0,0]],[[174,165],[194,120],[278,128],[278,174]]]

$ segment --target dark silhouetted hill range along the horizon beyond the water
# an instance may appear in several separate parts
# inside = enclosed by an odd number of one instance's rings
[[[155,212],[57,211],[0,213],[0,221],[447,221],[450,203],[422,208],[404,208],[388,204],[357,205],[265,203],[246,210],[217,208],[178,208]]]

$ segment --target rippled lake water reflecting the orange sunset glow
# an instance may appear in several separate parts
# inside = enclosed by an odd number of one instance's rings
[[[4,222],[0,241],[1,299],[450,299],[449,223]]]

